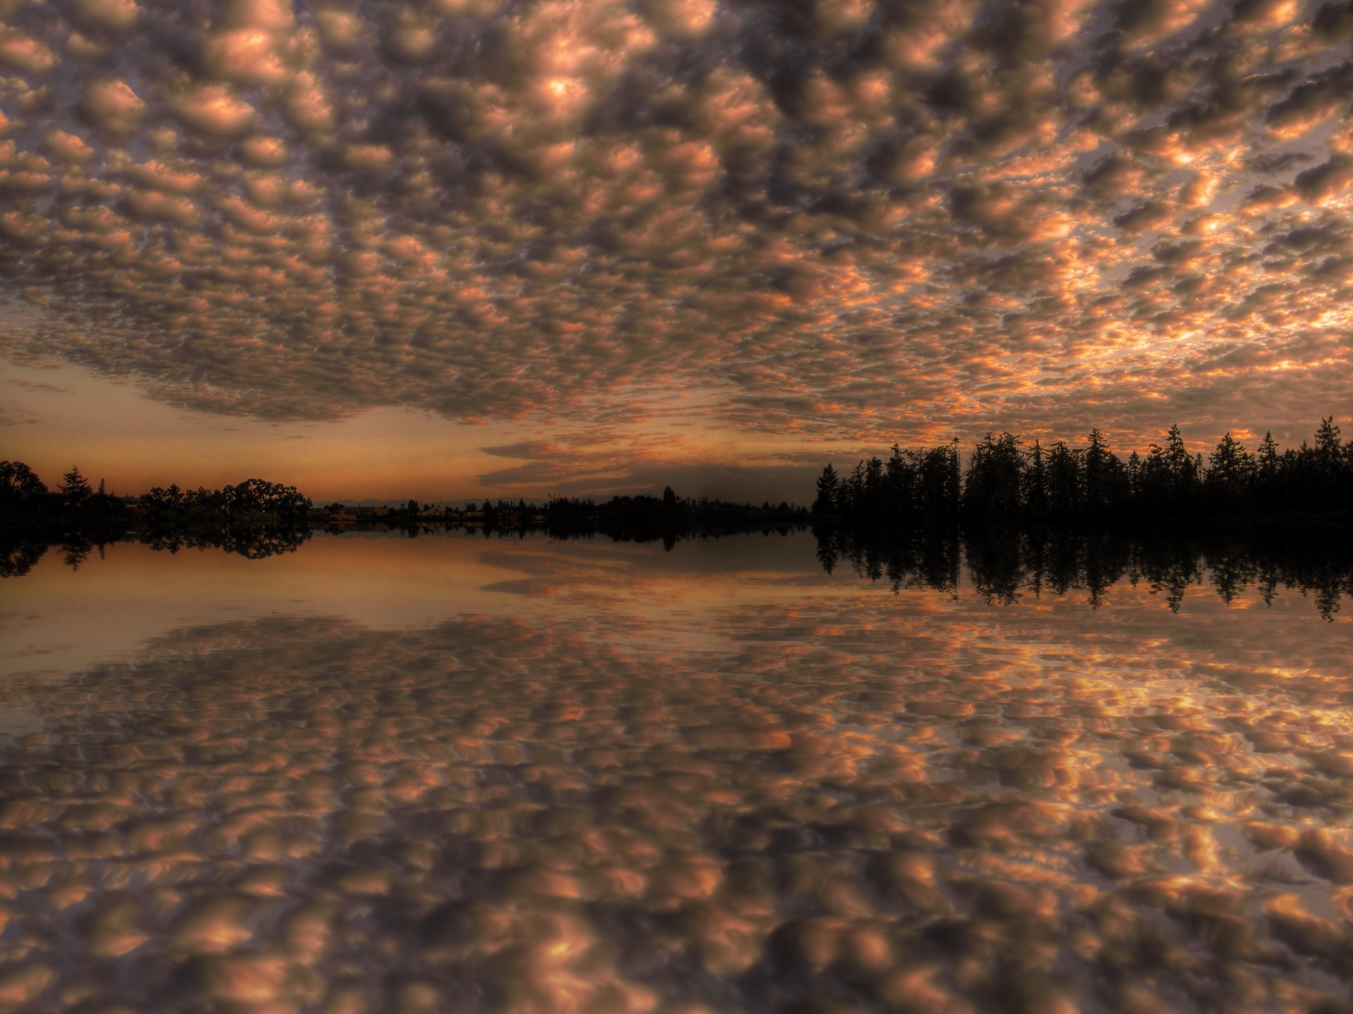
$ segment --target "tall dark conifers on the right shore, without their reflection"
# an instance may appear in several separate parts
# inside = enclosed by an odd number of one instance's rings
[[[936,525],[1258,522],[1348,525],[1353,519],[1353,443],[1333,416],[1315,442],[1279,449],[1272,433],[1249,450],[1227,433],[1207,456],[1189,453],[1178,426],[1146,453],[1119,457],[1104,434],[1085,446],[1026,443],[988,433],[961,468],[959,445],[859,461],[850,475],[828,464],[813,512],[879,530]]]

